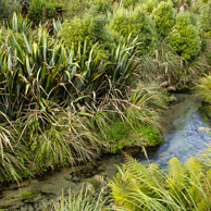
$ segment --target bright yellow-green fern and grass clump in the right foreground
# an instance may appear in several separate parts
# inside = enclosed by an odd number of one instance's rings
[[[210,164],[210,160],[208,161]],[[127,158],[110,183],[113,209],[124,210],[210,210],[210,172],[196,158],[182,164],[169,161],[167,171],[151,163],[148,167]]]

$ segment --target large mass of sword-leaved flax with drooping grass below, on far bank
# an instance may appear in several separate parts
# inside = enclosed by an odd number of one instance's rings
[[[54,22],[54,32],[59,25]],[[102,60],[98,44],[89,50],[86,40],[77,49],[67,48],[41,26],[32,29],[21,15],[14,14],[4,30],[0,119],[8,125],[2,131],[8,138],[2,134],[2,179],[96,159],[108,146],[107,137],[98,135],[105,135],[107,113],[126,119],[126,105],[132,104],[126,87],[139,66],[138,40],[113,46]],[[10,124],[14,121],[15,127]]]

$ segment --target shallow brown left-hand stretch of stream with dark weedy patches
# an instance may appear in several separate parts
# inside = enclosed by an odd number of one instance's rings
[[[140,147],[124,150],[128,154],[141,151]],[[9,210],[30,211],[42,210],[55,201],[58,197],[69,193],[71,188],[78,193],[84,184],[96,184],[95,176],[112,177],[116,173],[114,164],[121,164],[124,156],[104,154],[96,163],[87,163],[78,167],[61,167],[57,171],[48,172],[46,175],[37,178],[29,178],[20,184],[12,184],[9,187],[2,187],[0,208]]]

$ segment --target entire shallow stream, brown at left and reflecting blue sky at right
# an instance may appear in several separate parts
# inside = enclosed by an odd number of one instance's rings
[[[191,95],[177,94],[177,103],[170,107],[165,113],[166,128],[163,133],[165,139],[153,150],[147,150],[150,162],[165,167],[167,161],[177,157],[182,162],[207,147],[211,140],[211,135],[203,128],[210,125],[202,119],[200,112],[201,100],[195,99]],[[133,152],[133,157],[141,163],[147,163],[141,148],[127,151]],[[45,176],[29,178],[21,184],[2,187],[0,193],[0,209],[33,211],[42,210],[45,207],[55,201],[58,197],[69,193],[69,189],[78,193],[84,184],[92,183],[94,177],[112,177],[116,173],[114,164],[121,164],[124,158],[120,154],[104,154],[100,161],[73,167],[62,167],[48,172]]]

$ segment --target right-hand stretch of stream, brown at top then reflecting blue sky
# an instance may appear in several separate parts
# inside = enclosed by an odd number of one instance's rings
[[[202,129],[210,127],[210,124],[202,119],[201,101],[188,95],[176,97],[181,102],[172,105],[167,114],[171,124],[163,134],[165,141],[156,150],[148,151],[150,162],[158,163],[161,167],[165,167],[173,157],[185,162],[211,141],[211,134]],[[147,163],[144,154],[135,154],[135,158],[141,163]]]

